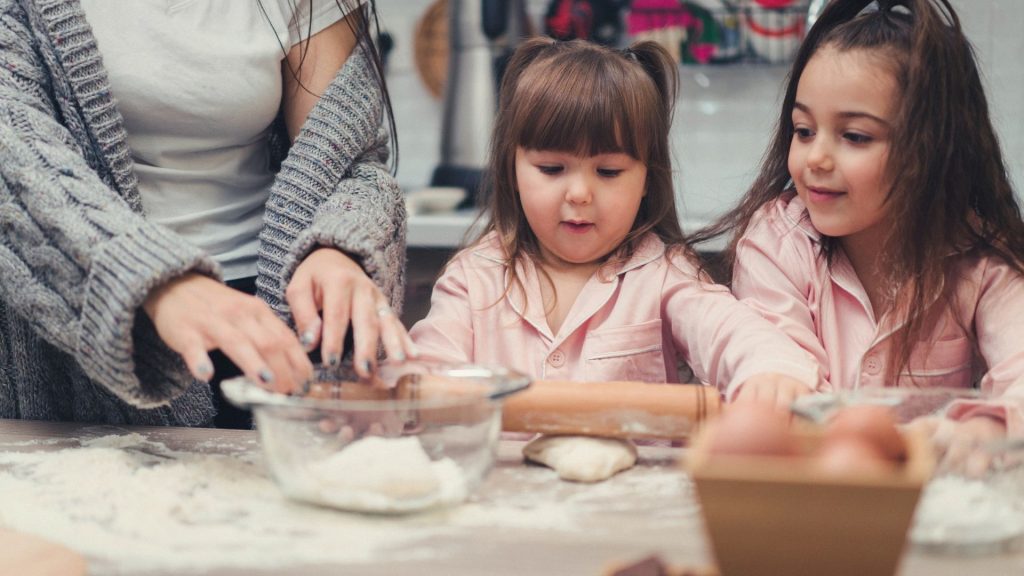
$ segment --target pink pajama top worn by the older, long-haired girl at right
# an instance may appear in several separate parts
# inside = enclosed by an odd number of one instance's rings
[[[803,201],[780,197],[740,238],[732,280],[736,297],[817,359],[824,370],[819,389],[980,385],[994,397],[1024,399],[1024,278],[1004,260],[950,262],[961,279],[952,303],[930,313],[934,323],[894,382],[885,371],[902,323],[888,314],[877,319],[850,261],[840,253],[828,266],[819,243]],[[1008,425],[1019,426],[1020,403],[1007,405],[1015,407]],[[957,410],[967,415],[965,405]]]

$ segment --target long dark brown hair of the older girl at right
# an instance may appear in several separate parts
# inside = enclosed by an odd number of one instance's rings
[[[905,320],[894,335],[892,378],[909,361],[934,305],[948,305],[955,264],[972,253],[1001,257],[1024,274],[1024,220],[989,118],[974,50],[948,0],[833,0],[808,32],[786,84],[782,111],[760,173],[739,205],[692,236],[733,232],[728,259],[754,214],[790,188],[793,108],[807,63],[820,49],[870,53],[890,68],[899,101],[890,138],[886,207],[895,225],[880,255]],[[866,8],[866,9],[865,9]],[[831,263],[838,239],[822,237]],[[902,287],[901,289],[897,289]],[[959,319],[969,325],[970,319]],[[912,376],[912,375],[911,375]]]

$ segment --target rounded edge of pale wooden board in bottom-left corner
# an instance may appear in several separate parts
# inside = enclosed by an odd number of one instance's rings
[[[84,576],[85,558],[49,540],[0,528],[0,576]]]

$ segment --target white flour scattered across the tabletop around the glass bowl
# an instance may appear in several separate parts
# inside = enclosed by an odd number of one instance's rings
[[[258,451],[175,452],[137,434],[82,444],[0,451],[0,526],[83,552],[93,576],[416,562],[458,553],[482,528],[583,534],[595,529],[587,518],[598,511],[644,515],[666,529],[696,518],[692,506],[666,505],[692,501],[677,468],[637,468],[602,485],[573,486],[547,468],[509,466],[494,472],[504,482],[485,498],[394,518],[287,500]],[[631,508],[621,504],[624,494],[644,498]]]

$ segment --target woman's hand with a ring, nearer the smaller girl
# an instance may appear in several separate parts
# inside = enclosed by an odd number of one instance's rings
[[[352,324],[355,372],[369,378],[377,365],[377,341],[388,358],[404,361],[416,346],[380,288],[359,264],[340,250],[319,248],[296,269],[285,293],[299,339],[331,366],[341,362],[345,333]],[[323,318],[321,317],[323,313]]]

